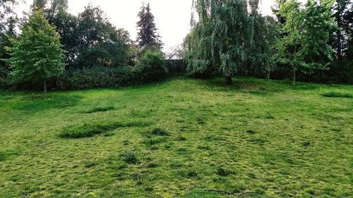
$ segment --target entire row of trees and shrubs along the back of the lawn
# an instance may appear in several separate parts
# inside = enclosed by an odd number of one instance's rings
[[[273,16],[259,0],[193,0],[182,47],[162,54],[150,5],[138,13],[138,37],[88,5],[77,16],[68,0],[34,0],[19,19],[16,0],[0,2],[0,87],[120,87],[167,77],[165,58],[182,56],[194,77],[234,75],[352,83],[353,3],[276,0]],[[17,32],[20,27],[20,31]]]

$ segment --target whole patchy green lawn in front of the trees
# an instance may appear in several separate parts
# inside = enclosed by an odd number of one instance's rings
[[[352,97],[254,78],[0,91],[0,197],[352,197]]]

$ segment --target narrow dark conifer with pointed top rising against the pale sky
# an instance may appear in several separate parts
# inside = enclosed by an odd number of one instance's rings
[[[140,48],[150,47],[152,49],[161,49],[162,42],[160,35],[157,34],[157,27],[155,25],[155,17],[150,10],[150,4],[143,5],[140,13],[138,13],[140,20],[137,23],[138,37],[137,42]]]

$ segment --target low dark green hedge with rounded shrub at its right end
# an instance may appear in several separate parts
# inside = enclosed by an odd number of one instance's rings
[[[167,77],[164,57],[159,51],[145,51],[135,67],[95,66],[68,70],[56,80],[53,87],[61,90],[114,88],[155,82]]]

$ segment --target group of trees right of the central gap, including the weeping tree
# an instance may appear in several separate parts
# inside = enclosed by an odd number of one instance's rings
[[[192,75],[234,75],[352,83],[353,3],[277,0],[275,18],[258,0],[193,0],[184,42]],[[194,20],[197,18],[197,20]]]

